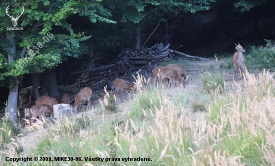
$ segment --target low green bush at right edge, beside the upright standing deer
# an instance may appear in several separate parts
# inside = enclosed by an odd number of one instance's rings
[[[245,64],[248,68],[275,68],[275,43],[270,40],[265,41],[265,47],[250,47],[250,53],[246,56],[245,60]]]

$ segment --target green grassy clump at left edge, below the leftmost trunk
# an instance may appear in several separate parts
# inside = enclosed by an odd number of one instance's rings
[[[8,118],[3,119],[0,122],[0,147],[4,145],[4,143],[8,143],[10,138],[17,136],[20,134],[20,127],[12,124],[12,121]]]

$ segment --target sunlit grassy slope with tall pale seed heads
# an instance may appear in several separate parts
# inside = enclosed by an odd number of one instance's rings
[[[31,127],[36,127],[35,131],[7,144],[0,153],[1,165],[11,163],[4,160],[5,156],[82,159],[32,162],[43,165],[274,165],[273,75],[260,71],[259,76],[249,75],[248,81],[233,82],[231,58],[173,63],[191,74],[186,89],[178,84],[170,89],[156,87],[150,74],[146,76],[152,79],[137,77],[139,90],[133,99],[118,102],[112,106],[115,110],[109,111],[104,106],[110,102],[106,95],[103,105],[76,117],[47,124],[46,129],[36,124]],[[201,81],[207,74],[204,71],[212,76],[219,71],[225,83],[222,90],[216,90],[218,86],[205,90],[207,83],[215,82],[207,82],[211,76]],[[24,149],[19,155],[15,150],[18,144]],[[84,158],[97,156],[109,161]],[[126,157],[151,161],[122,161]]]

